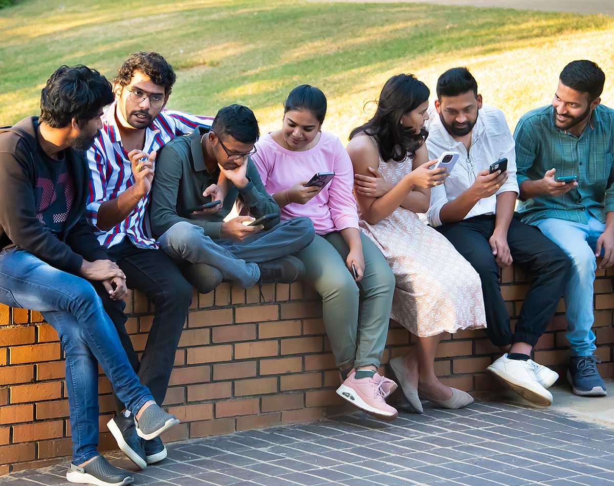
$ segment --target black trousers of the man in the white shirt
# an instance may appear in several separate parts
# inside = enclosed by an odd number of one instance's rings
[[[501,296],[500,268],[488,243],[494,228],[495,216],[481,215],[442,225],[437,230],[480,274],[486,307],[486,333],[492,344],[505,346],[527,342],[535,345],[563,296],[571,261],[541,231],[521,222],[518,214],[514,215],[507,232],[507,244],[514,264],[525,266],[533,282],[512,334],[510,317]]]

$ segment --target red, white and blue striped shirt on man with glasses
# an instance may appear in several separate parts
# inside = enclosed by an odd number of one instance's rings
[[[161,110],[146,129],[143,152],[150,153],[152,150],[159,150],[174,137],[192,133],[197,126],[211,126],[212,123],[212,117],[198,117],[180,111]],[[128,236],[130,241],[138,247],[158,249],[157,241],[147,234],[144,227],[149,195],[144,196],[128,217],[115,228],[102,231],[97,226],[98,210],[101,204],[117,198],[120,193],[134,184],[130,159],[128,153],[123,149],[115,121],[115,103],[104,112],[103,128],[87,151],[87,160],[90,166],[87,218],[90,225],[95,228],[100,244],[110,248]]]

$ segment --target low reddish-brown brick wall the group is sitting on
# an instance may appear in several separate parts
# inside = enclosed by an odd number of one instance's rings
[[[610,273],[614,275],[614,272]],[[502,293],[518,315],[527,284],[519,269],[505,269]],[[603,376],[614,376],[612,278],[595,283],[595,331]],[[225,434],[279,423],[305,422],[340,411],[338,372],[322,325],[321,304],[302,284],[258,290],[220,285],[192,301],[175,359],[166,406],[182,421],[166,441]],[[126,312],[134,347],[141,351],[152,309],[140,293]],[[535,350],[535,359],[561,372],[569,358],[564,306]],[[53,328],[41,314],[0,305],[0,474],[47,465],[71,452],[64,362]],[[409,333],[391,322],[383,363],[405,352]],[[464,390],[495,386],[484,368],[497,350],[483,331],[462,331],[440,344],[437,370]],[[114,401],[99,379],[101,449],[115,446],[106,422]],[[335,409],[335,407],[337,407]]]

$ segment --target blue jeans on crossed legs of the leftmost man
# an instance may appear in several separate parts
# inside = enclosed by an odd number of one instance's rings
[[[153,396],[139,383],[115,326],[90,282],[18,248],[0,250],[0,302],[40,311],[66,355],[72,462],[98,455],[98,364],[117,396],[136,413]]]

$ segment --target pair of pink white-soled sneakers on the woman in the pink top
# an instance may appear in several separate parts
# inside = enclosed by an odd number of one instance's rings
[[[337,388],[337,395],[346,399],[363,412],[383,420],[397,418],[397,409],[391,407],[384,400],[383,377],[377,373],[373,378],[356,379],[356,371],[352,371],[348,378]]]

